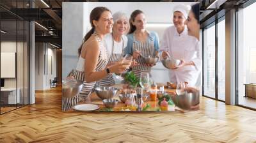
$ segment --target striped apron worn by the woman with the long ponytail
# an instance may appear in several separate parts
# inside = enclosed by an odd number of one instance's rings
[[[100,40],[98,34],[97,33],[94,33],[94,34],[100,46],[100,54],[99,54],[99,59],[98,59],[98,63],[95,68],[95,71],[100,72],[108,64],[108,57],[106,56],[107,50],[106,50],[106,46],[104,46],[104,43]],[[73,73],[70,73],[70,75],[74,76],[74,78],[77,80],[84,80],[84,72],[75,70],[73,71]],[[84,80],[82,90],[77,96],[75,96],[74,98],[62,98],[62,110],[66,111],[72,108],[78,102],[82,102],[86,100],[86,98],[88,98],[90,94],[93,92],[95,84],[96,84],[96,81],[86,82]]]

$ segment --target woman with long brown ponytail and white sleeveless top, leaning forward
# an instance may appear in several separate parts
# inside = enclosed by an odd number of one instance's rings
[[[104,35],[111,33],[113,18],[111,11],[105,7],[96,7],[90,13],[92,29],[84,36],[79,47],[79,60],[74,78],[84,80],[83,89],[74,98],[63,98],[62,109],[67,110],[76,105],[81,99],[86,99],[93,91],[97,80],[103,79],[111,73],[120,73],[125,67],[120,63],[106,68],[108,53],[104,45]],[[83,96],[83,98],[80,98]]]

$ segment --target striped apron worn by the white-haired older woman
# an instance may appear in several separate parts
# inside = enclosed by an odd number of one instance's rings
[[[114,53],[114,38],[113,38],[113,34],[112,34],[112,52],[109,57],[108,63],[118,62],[118,61],[122,60],[123,52],[124,52],[124,39],[123,38],[122,38],[122,41],[123,41],[122,53]],[[118,48],[120,48],[120,47],[118,47]],[[113,79],[112,74],[109,74],[107,77],[104,77],[104,79],[97,81],[97,87],[113,86],[113,84],[115,84],[115,81]]]

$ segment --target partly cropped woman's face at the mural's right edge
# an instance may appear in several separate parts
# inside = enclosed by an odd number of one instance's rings
[[[185,24],[188,27],[188,34],[190,36],[195,36],[195,37],[198,36],[200,31],[200,26],[197,20],[195,19],[194,13],[192,13],[191,11],[189,12],[188,19],[185,21]]]

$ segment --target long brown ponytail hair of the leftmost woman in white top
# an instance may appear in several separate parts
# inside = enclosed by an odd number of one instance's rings
[[[83,42],[81,44],[81,46],[78,49],[78,56],[80,56],[81,52],[82,52],[82,47],[84,45],[84,43],[90,38],[90,36],[92,36],[92,34],[95,31],[95,26],[93,25],[93,20],[98,21],[100,19],[100,16],[102,15],[102,13],[104,11],[109,11],[111,12],[108,8],[106,7],[96,7],[93,8],[93,10],[90,13],[90,24],[92,26],[92,29],[90,29],[90,31],[88,31],[88,33],[85,34],[84,38],[83,38]]]

